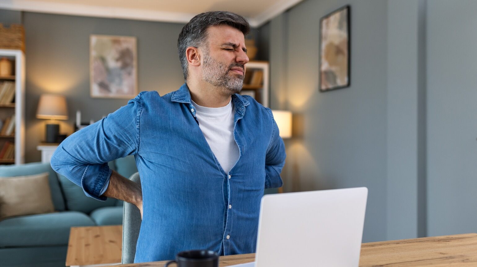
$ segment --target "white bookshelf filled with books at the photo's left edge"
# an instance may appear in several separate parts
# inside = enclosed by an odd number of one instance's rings
[[[0,76],[0,164],[25,161],[25,56],[21,50],[0,49],[13,75]]]

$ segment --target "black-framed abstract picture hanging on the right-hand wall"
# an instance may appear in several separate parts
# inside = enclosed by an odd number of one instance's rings
[[[350,86],[350,6],[320,20],[320,91]]]

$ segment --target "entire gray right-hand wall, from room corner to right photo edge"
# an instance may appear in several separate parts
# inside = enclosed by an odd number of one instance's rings
[[[345,4],[351,86],[319,92],[319,19]],[[305,0],[262,27],[271,107],[301,130],[286,140],[285,191],[367,186],[364,242],[476,232],[476,9]]]

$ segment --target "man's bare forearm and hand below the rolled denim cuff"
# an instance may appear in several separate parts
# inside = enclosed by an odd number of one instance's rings
[[[135,205],[141,212],[141,219],[143,218],[143,191],[141,185],[119,175],[113,170],[109,178],[108,189],[106,189],[103,195]]]

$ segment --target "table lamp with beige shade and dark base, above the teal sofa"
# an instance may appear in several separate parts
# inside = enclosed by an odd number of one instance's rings
[[[38,103],[36,112],[38,119],[52,120],[46,124],[46,143],[56,143],[58,134],[60,133],[60,125],[54,120],[67,120],[68,109],[66,107],[66,99],[62,95],[42,94]]]

